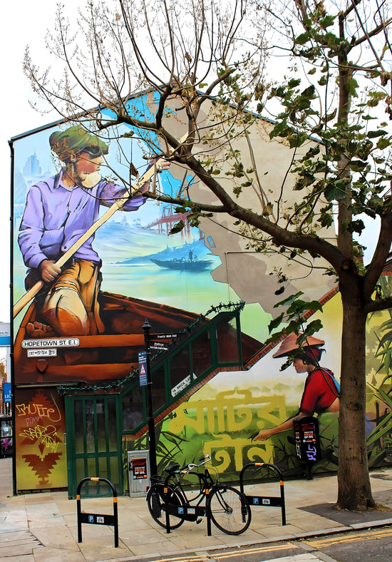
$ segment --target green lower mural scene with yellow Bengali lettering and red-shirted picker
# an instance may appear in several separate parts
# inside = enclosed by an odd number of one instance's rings
[[[295,368],[295,362],[280,371],[290,342],[286,347],[284,342],[277,344],[249,371],[218,374],[160,422],[160,470],[163,471],[169,460],[175,459],[182,464],[208,453],[214,466],[227,480],[237,479],[242,466],[249,462],[277,464],[286,475],[304,473],[305,465],[296,455],[292,427],[292,419],[297,417],[302,405],[304,413],[315,413],[319,422],[321,460],[314,464],[312,470],[336,471],[340,379],[340,338],[336,335],[336,322],[339,323],[341,318],[339,294],[328,300],[323,308],[324,313],[320,317],[324,327],[317,334],[314,352],[316,349],[326,350],[319,358],[319,364],[328,377],[327,381],[321,380],[324,388],[312,388],[309,373],[301,367]],[[318,316],[317,312],[314,317]],[[376,312],[368,318],[367,325],[366,431],[370,466],[392,462],[391,371],[383,362],[383,354],[391,351],[387,342],[392,333],[391,318],[391,310]],[[301,361],[309,361],[309,357]],[[316,370],[314,372],[322,377]],[[319,385],[320,380],[316,383]],[[319,397],[319,404],[316,397]],[[132,446],[145,446],[145,441],[141,439],[128,444],[128,447]]]

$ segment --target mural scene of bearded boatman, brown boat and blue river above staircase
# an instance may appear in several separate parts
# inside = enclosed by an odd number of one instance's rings
[[[63,267],[56,265],[123,195],[120,185],[103,176],[112,167],[124,173],[123,154],[132,155],[142,175],[145,150],[143,143],[125,139],[122,152],[109,153],[108,143],[76,126],[56,126],[14,143],[14,302],[43,282],[14,320],[17,385],[127,377],[144,347],[146,317],[156,332],[175,332],[205,310],[206,294],[212,302],[226,300],[224,287],[210,275],[220,260],[211,255],[202,231],[187,227],[168,237],[185,217],[168,205],[145,203],[143,185]],[[175,183],[165,172],[159,180]],[[16,399],[34,400],[38,391],[29,392],[16,389]],[[38,435],[39,427],[31,435]],[[41,451],[43,441],[48,444],[48,434],[17,442],[19,489],[66,486],[61,454],[54,445],[50,455]],[[56,484],[48,478],[53,467]]]

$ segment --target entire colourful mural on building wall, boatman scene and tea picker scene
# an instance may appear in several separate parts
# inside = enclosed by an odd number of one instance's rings
[[[274,150],[287,151],[281,145]],[[140,193],[83,241],[61,269],[55,265],[81,233],[102,218],[113,198],[123,194],[118,178],[129,177],[130,163],[134,173],[138,170],[143,175],[150,156],[143,138],[126,135],[115,145],[66,124],[14,142],[14,302],[37,281],[45,284],[14,320],[16,385],[72,382],[97,384],[99,389],[108,379],[124,379],[138,367],[145,318],[153,332],[177,332],[220,302],[247,302],[242,332],[249,336],[249,357],[262,347],[275,299],[272,285],[267,284],[273,278],[269,258],[245,252],[241,237],[224,219],[205,221],[200,229],[188,225],[180,234],[168,236],[185,216],[170,205],[144,202],[143,184]],[[273,165],[274,158],[267,160]],[[184,180],[183,170],[182,180],[179,177],[178,170],[169,169],[154,181],[172,193]],[[292,277],[301,276],[292,269]],[[328,290],[313,280],[296,281],[298,286],[301,282],[311,283],[309,291]],[[313,349],[313,353],[326,349],[318,357],[325,367],[321,377],[329,388],[326,402],[309,406],[311,385],[305,383],[311,376],[309,362],[297,373],[294,367],[279,372],[284,360],[272,357],[276,348],[247,372],[217,374],[158,424],[160,468],[171,457],[197,459],[209,453],[227,479],[246,461],[274,462],[298,474],[301,466],[292,427],[282,424],[302,404],[304,412],[319,414],[323,458],[316,469],[336,469],[339,408],[332,403],[337,398],[334,378],[340,378],[340,335],[336,332],[340,317],[340,300],[334,297],[324,305],[324,328],[318,334],[324,343]],[[385,322],[384,313],[373,315],[368,332],[372,349],[368,439],[374,463],[386,458],[391,449],[391,431],[385,429],[392,416],[386,392],[389,371],[387,361],[382,361],[389,356],[380,343]],[[186,375],[195,377],[195,373]],[[305,384],[308,397],[303,396]],[[53,392],[16,388],[16,403],[21,406],[18,489],[66,486],[61,441],[65,422],[58,400],[56,386]],[[44,404],[47,411],[58,409],[61,419],[32,421],[33,414],[25,414],[33,412],[34,404]],[[137,409],[143,417],[139,402]],[[128,448],[145,446],[143,439]]]

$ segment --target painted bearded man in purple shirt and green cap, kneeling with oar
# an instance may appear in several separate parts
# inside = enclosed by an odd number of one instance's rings
[[[33,337],[52,330],[58,335],[99,334],[101,262],[93,249],[94,235],[62,269],[56,261],[96,222],[100,205],[110,207],[126,190],[100,179],[108,145],[98,137],[72,126],[52,133],[49,143],[63,168],[31,187],[19,229],[19,247],[29,267],[26,288],[37,279],[46,284],[36,297],[43,324],[26,328]],[[123,210],[137,210],[143,203],[143,195],[134,195]]]

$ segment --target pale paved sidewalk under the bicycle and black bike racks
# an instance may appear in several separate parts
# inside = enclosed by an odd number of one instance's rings
[[[76,500],[68,499],[66,491],[12,496],[11,469],[11,459],[0,459],[0,561],[152,562],[177,556],[177,560],[184,562],[201,553],[207,559],[208,552],[217,549],[392,525],[392,466],[387,466],[371,473],[373,497],[384,508],[364,514],[336,511],[336,476],[315,476],[312,480],[284,482],[284,526],[280,507],[260,506],[252,508],[252,522],[239,536],[222,533],[213,523],[212,535],[207,536],[205,519],[199,525],[185,521],[167,534],[151,518],[144,497],[119,496],[118,548],[114,546],[113,526],[83,524],[82,542],[78,543]],[[279,496],[279,484],[252,484],[246,486],[245,492]],[[81,509],[110,515],[113,499],[82,498]],[[315,557],[304,553],[299,559]]]

